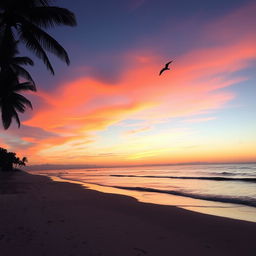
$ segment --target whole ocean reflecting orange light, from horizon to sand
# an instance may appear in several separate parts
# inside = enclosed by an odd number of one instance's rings
[[[41,170],[57,181],[191,211],[256,222],[256,164]]]

